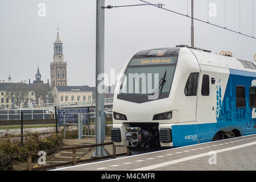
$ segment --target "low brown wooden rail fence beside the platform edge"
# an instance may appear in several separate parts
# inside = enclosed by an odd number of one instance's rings
[[[107,156],[101,156],[97,158],[92,158],[92,159],[83,159],[83,160],[76,160],[76,150],[79,148],[91,148],[91,147],[99,147],[99,146],[106,146],[112,144],[112,153],[113,155],[107,155]],[[42,167],[36,167],[32,168],[32,155],[38,155],[40,151],[34,151],[34,152],[23,152],[20,154],[10,154],[10,155],[1,155],[0,159],[11,159],[11,158],[16,158],[20,156],[27,156],[27,169],[26,171],[39,171],[39,170],[44,170],[44,169],[52,169],[60,166],[76,166],[77,163],[85,163],[85,162],[93,162],[96,160],[102,160],[102,159],[108,159],[108,158],[116,158],[117,156],[123,156],[123,155],[130,155],[130,151],[127,148],[126,153],[122,154],[116,154],[116,146],[114,145],[114,142],[108,142],[108,143],[100,143],[100,144],[90,144],[90,145],[81,145],[81,146],[72,146],[72,147],[63,147],[63,148],[56,148],[56,149],[50,149],[46,150],[46,153],[52,153],[52,152],[59,152],[59,151],[65,151],[65,150],[72,150],[72,162],[66,162],[66,163],[61,163],[61,164],[53,164],[49,166],[42,166]]]

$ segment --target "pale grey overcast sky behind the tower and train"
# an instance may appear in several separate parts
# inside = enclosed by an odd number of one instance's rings
[[[191,15],[190,0],[147,1],[163,3],[166,9]],[[210,23],[220,26],[226,22],[229,29],[256,36],[256,0],[243,0],[241,6],[239,0],[226,0],[226,6],[224,0],[209,0],[216,9],[208,9],[206,0],[194,2],[195,18],[209,17]],[[45,5],[43,14],[40,3]],[[105,5],[113,6],[141,3],[105,0]],[[208,16],[208,10],[216,16]],[[42,80],[47,82],[49,78],[50,82],[53,43],[59,27],[64,61],[68,64],[68,85],[95,86],[96,0],[1,0],[0,26],[0,80],[7,81],[11,72],[12,82],[28,82],[29,78],[32,82],[39,64]],[[190,26],[191,19],[153,6],[106,9],[105,73],[110,76],[114,70],[117,75],[142,49],[190,46]],[[237,59],[253,61],[256,39],[195,20],[195,47],[213,53],[231,51]]]

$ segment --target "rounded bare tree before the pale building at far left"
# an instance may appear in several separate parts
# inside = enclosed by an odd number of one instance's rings
[[[28,97],[28,85],[22,83],[11,84],[6,90],[6,97],[10,98],[14,104],[20,107],[20,104]]]

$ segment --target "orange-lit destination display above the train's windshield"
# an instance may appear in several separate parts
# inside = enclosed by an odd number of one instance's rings
[[[134,58],[130,62],[130,66],[154,65],[154,64],[175,64],[175,60],[173,56],[168,56],[168,57]]]

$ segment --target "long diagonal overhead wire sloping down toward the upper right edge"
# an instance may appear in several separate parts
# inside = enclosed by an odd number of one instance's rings
[[[152,6],[158,7],[158,6],[156,6],[156,5],[153,5],[152,3],[147,2],[147,1],[144,1],[144,0],[139,0],[139,1],[144,2],[144,3],[147,3],[148,5],[152,5]],[[175,14],[178,14],[178,15],[181,15],[181,16],[185,16],[185,17],[187,17],[187,18],[192,18],[192,17],[189,16],[189,15],[185,15],[185,14],[179,13],[179,12],[177,12],[177,11],[173,11],[173,10],[170,10],[170,9],[166,9],[166,8],[164,8],[164,7],[159,7],[159,8],[162,9],[162,10],[169,11],[169,12],[171,12],[171,13],[175,13]],[[199,21],[199,22],[203,22],[203,23],[210,24],[210,25],[215,26],[215,27],[218,27],[218,28],[222,28],[222,29],[224,29],[224,30],[228,30],[228,31],[230,31],[230,32],[234,32],[234,33],[237,33],[237,34],[240,34],[240,35],[243,35],[243,36],[247,36],[247,37],[249,37],[249,38],[256,39],[256,38],[254,37],[254,34],[253,34],[253,36],[247,35],[247,34],[243,34],[243,33],[241,33],[241,30],[239,30],[239,32],[238,32],[238,31],[235,31],[235,30],[226,28],[226,26],[225,26],[225,27],[222,27],[222,26],[220,26],[220,25],[213,24],[213,23],[209,23],[209,22],[206,22],[205,20],[198,19],[198,18],[195,18],[195,17],[193,17],[192,19],[197,20],[197,21]],[[241,22],[241,19],[240,19],[240,22]],[[240,26],[241,26],[241,25],[240,25]]]

